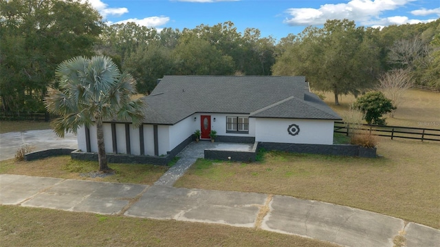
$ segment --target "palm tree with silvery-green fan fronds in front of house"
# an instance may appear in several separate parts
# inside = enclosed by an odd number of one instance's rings
[[[134,127],[142,124],[144,103],[131,99],[135,80],[121,74],[107,56],[74,57],[58,65],[55,74],[59,87],[45,98],[47,111],[61,116],[51,123],[54,131],[64,137],[67,131],[76,133],[82,125],[96,124],[99,171],[109,171],[102,120],[131,121]]]

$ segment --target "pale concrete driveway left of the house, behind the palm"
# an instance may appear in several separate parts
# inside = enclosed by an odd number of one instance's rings
[[[44,149],[78,149],[76,136],[66,133],[65,138],[56,136],[52,129],[0,133],[0,160],[14,158],[17,150],[29,144],[35,151]]]

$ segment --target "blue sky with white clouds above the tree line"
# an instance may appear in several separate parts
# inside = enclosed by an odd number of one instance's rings
[[[386,26],[434,21],[440,0],[82,0],[107,23],[133,21],[149,28],[195,28],[232,21],[239,32],[258,28],[279,40],[327,19],[350,19],[357,25]]]

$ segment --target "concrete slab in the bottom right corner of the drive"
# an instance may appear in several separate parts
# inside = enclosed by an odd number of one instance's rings
[[[408,223],[405,228],[407,247],[440,246],[440,230],[415,223]]]

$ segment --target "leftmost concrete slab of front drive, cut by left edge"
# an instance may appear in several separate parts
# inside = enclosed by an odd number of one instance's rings
[[[61,178],[0,174],[0,204],[20,204],[61,181],[63,181]]]

